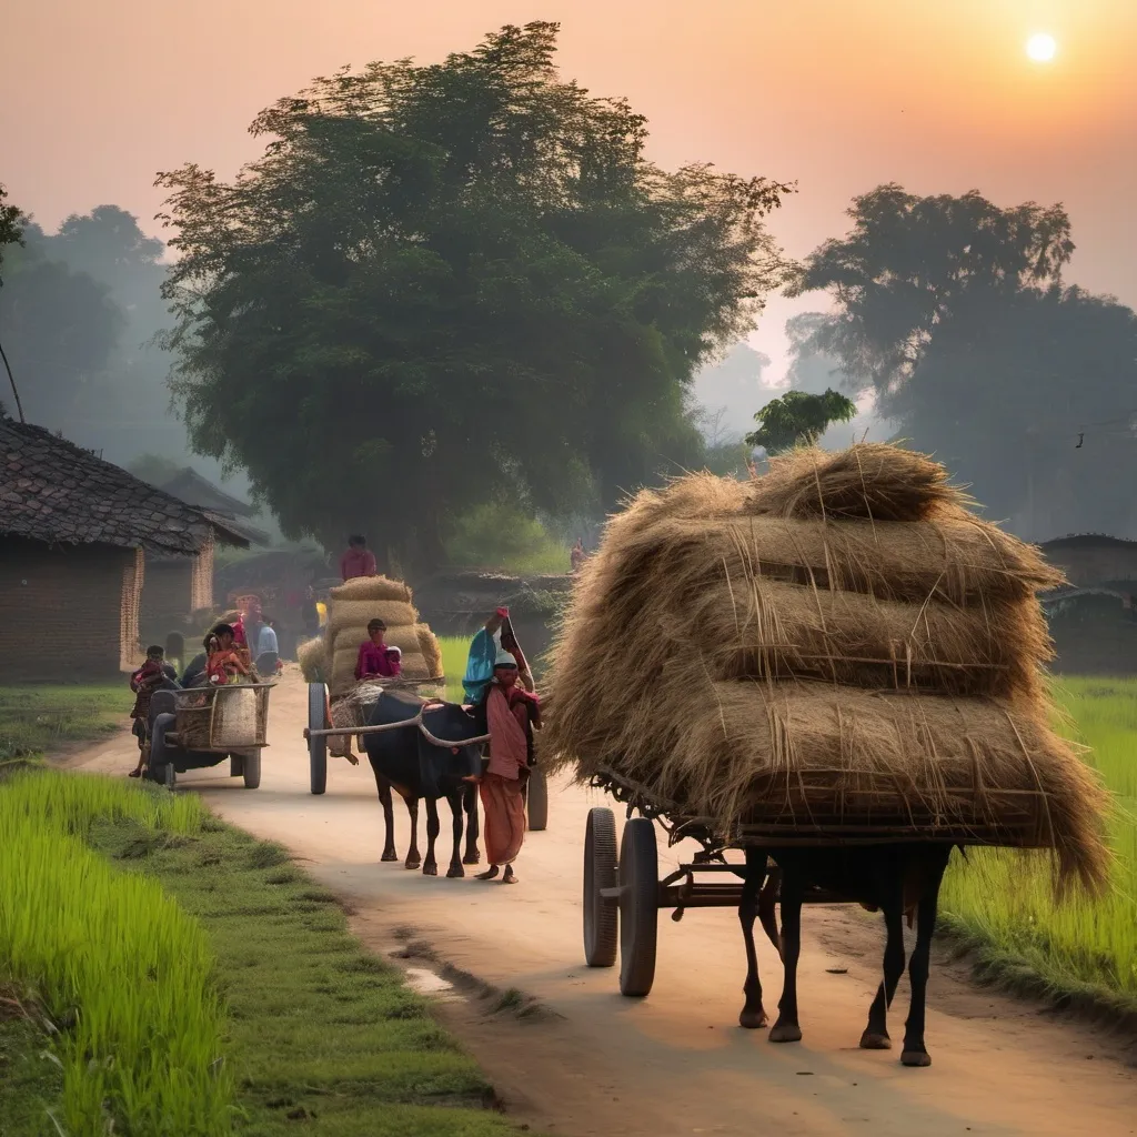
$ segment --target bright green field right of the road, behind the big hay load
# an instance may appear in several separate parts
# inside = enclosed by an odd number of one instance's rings
[[[1056,694],[1117,796],[1112,889],[1056,905],[1041,857],[972,849],[945,880],[944,919],[993,979],[1137,1013],[1137,680],[1062,677]]]

